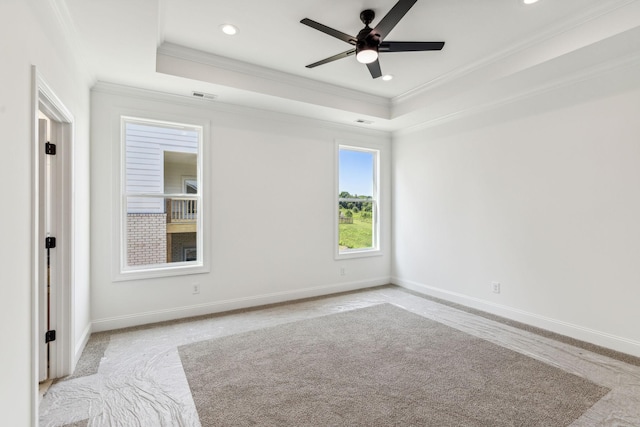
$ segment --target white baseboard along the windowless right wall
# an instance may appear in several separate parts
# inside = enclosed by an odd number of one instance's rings
[[[496,304],[491,301],[474,298],[457,292],[447,291],[423,283],[392,277],[391,283],[405,289],[409,289],[424,295],[440,298],[446,301],[461,304],[467,307],[495,314],[510,320],[522,322],[527,325],[542,328],[550,332],[565,335],[580,341],[585,341],[611,350],[616,350],[632,356],[640,357],[640,342],[628,338],[596,331],[580,325],[563,322],[513,307]]]

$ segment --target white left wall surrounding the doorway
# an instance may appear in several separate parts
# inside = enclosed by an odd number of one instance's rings
[[[0,413],[15,426],[31,423],[31,391],[37,383],[31,369],[32,65],[75,117],[73,345],[89,325],[89,84],[61,31],[49,2],[0,2],[0,180],[10,183],[3,186],[0,214]],[[9,209],[6,201],[20,210]]]

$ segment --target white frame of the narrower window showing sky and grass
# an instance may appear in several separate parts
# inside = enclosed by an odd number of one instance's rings
[[[372,196],[372,227],[373,227],[373,246],[371,248],[362,249],[348,249],[341,251],[340,242],[340,221],[338,215],[335,214],[336,208],[340,203],[340,150],[362,151],[366,153],[373,153],[374,165],[373,165],[373,194]],[[381,256],[382,249],[380,245],[380,156],[382,150],[376,147],[370,147],[365,145],[358,145],[354,143],[342,143],[336,141],[335,149],[335,199],[334,199],[334,248],[335,259],[349,259],[349,258],[363,258],[371,256]]]

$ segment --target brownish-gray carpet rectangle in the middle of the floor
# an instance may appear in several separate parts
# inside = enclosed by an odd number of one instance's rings
[[[609,391],[391,304],[179,352],[204,427],[555,427]]]

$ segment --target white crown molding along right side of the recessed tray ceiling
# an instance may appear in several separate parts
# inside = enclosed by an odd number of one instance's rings
[[[513,43],[507,48],[496,52],[493,55],[451,70],[446,74],[442,74],[429,82],[426,82],[401,95],[391,98],[392,107],[398,106],[412,98],[427,96],[427,92],[437,87],[451,83],[457,79],[477,72],[490,65],[496,64],[504,59],[516,55],[517,53],[535,47],[564,33],[568,33],[571,30],[579,28],[589,22],[604,17],[605,15],[613,13],[614,11],[617,11],[635,2],[637,2],[637,0],[609,0],[608,2],[603,1],[596,6],[586,9],[581,14],[573,15],[569,19],[556,22],[555,25],[546,28],[536,36],[519,41],[517,43]]]

